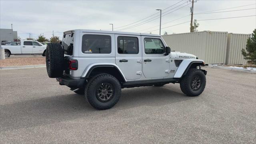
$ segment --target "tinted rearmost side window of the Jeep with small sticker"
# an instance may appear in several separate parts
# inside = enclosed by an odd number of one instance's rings
[[[110,54],[111,37],[107,35],[83,35],[82,52],[85,54]]]

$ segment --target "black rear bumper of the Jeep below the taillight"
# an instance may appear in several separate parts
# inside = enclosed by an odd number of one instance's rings
[[[60,78],[56,78],[56,80],[60,83],[60,85],[65,85],[70,88],[81,88],[86,79],[84,78],[74,79],[74,78],[70,78],[68,76],[63,75]]]

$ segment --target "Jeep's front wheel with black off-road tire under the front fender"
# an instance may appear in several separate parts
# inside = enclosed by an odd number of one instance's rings
[[[200,95],[206,86],[206,77],[202,70],[191,68],[180,80],[180,89],[187,96]]]

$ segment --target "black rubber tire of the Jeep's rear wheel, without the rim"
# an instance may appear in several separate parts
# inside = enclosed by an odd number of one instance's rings
[[[98,90],[98,87],[103,83],[111,84],[114,89],[112,98],[108,102],[100,102],[100,100],[98,100],[96,95],[96,91]],[[120,82],[110,74],[98,74],[92,77],[88,81],[87,86],[88,86],[87,90],[85,88],[85,92],[86,92],[85,96],[89,104],[98,110],[106,110],[106,109],[112,108],[118,102],[121,96]]]

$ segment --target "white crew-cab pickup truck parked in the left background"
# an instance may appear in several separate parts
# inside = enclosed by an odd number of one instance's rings
[[[17,46],[2,46],[4,48],[4,56],[10,57],[11,54],[42,54],[45,56],[46,45],[35,40],[21,40]]]

